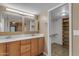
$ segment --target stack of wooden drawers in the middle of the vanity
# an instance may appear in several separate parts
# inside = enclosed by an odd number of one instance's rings
[[[30,56],[30,39],[21,41],[21,55]]]

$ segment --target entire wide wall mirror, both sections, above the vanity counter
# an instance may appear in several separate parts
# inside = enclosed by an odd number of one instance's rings
[[[34,32],[38,31],[38,20],[35,17],[17,13],[0,13],[0,32]]]

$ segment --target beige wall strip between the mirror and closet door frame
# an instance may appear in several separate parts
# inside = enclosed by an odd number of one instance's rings
[[[48,28],[48,26],[47,26],[48,25],[47,24],[48,12],[47,11],[41,12],[38,19],[39,19],[39,27],[40,27],[39,32],[45,35],[45,49],[44,49],[44,51],[45,51],[46,54],[48,54],[48,52],[47,52],[47,47],[48,47],[47,46],[47,39],[48,39],[48,37],[47,37],[47,34],[48,34],[48,32],[47,32],[48,31],[47,30],[47,28]]]

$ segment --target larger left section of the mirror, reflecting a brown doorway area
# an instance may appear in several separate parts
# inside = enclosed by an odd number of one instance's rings
[[[22,32],[22,17],[9,12],[1,13],[0,32]]]

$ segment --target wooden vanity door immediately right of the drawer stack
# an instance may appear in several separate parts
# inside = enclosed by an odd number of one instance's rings
[[[31,56],[38,55],[38,40],[31,39]]]

